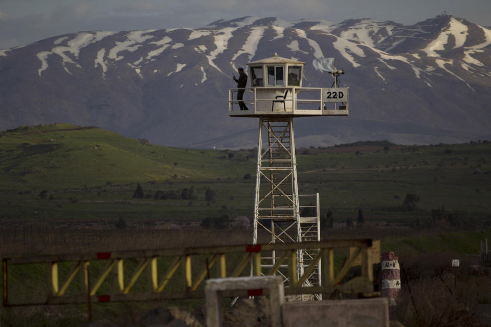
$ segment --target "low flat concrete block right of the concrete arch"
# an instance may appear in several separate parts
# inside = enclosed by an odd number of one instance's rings
[[[387,298],[288,302],[284,327],[389,327]]]

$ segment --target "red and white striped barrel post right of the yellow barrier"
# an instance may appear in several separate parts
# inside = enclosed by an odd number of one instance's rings
[[[382,296],[389,298],[389,306],[395,306],[400,292],[400,268],[394,252],[382,253]]]

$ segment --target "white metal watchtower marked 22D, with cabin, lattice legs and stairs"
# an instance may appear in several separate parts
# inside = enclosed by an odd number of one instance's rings
[[[318,241],[319,194],[298,194],[293,118],[348,115],[349,89],[302,87],[304,62],[277,55],[247,66],[251,87],[242,89],[242,101],[249,110],[239,110],[235,100],[239,89],[232,88],[229,115],[259,118],[253,243],[257,243],[258,228],[271,236],[270,243]],[[304,214],[303,208],[308,208]],[[305,250],[297,253],[298,276],[303,275],[315,255]],[[274,252],[261,258],[263,273],[274,267],[277,259]],[[285,279],[288,276],[281,269],[278,273]],[[320,285],[320,281],[319,264],[305,283]]]

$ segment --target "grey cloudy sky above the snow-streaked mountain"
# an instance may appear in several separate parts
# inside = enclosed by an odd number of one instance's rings
[[[0,49],[79,31],[198,28],[243,16],[411,25],[443,12],[491,26],[491,0],[0,0]]]

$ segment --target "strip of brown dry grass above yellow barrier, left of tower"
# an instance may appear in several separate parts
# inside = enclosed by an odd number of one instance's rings
[[[50,228],[0,229],[0,257],[21,255],[163,249],[251,242],[250,230],[186,228]]]

